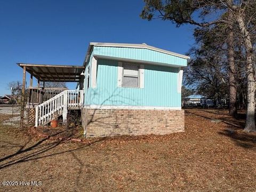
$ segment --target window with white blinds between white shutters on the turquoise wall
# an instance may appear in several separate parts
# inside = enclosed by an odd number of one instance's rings
[[[139,87],[139,65],[123,63],[123,87]]]

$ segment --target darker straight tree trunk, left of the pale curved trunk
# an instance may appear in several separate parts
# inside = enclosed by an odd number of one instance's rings
[[[237,87],[236,87],[236,68],[234,59],[234,31],[233,18],[229,11],[230,26],[228,30],[228,83],[229,83],[229,115],[235,117],[237,115]]]

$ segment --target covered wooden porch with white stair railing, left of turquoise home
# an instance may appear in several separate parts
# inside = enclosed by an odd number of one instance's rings
[[[45,87],[45,82],[74,82],[83,87],[83,66],[17,64],[23,69],[20,127],[24,126],[25,108],[28,109],[28,116],[29,111],[35,114],[35,126],[38,126],[49,123],[56,115],[62,115],[64,123],[68,109],[79,109],[83,105],[83,90]],[[26,73],[30,74],[27,88]],[[33,78],[36,78],[36,86],[33,86]]]

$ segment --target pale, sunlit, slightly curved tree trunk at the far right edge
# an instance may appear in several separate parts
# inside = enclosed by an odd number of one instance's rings
[[[244,37],[244,46],[246,49],[246,78],[247,78],[247,110],[246,110],[246,123],[244,131],[250,132],[255,129],[255,79],[253,73],[253,49],[252,41],[247,31],[244,20],[241,14],[236,15],[239,29]]]

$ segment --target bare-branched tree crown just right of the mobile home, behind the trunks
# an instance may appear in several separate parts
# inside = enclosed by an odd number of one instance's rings
[[[215,57],[216,51],[206,47],[191,49],[193,57],[185,68],[185,84],[197,87],[199,94],[220,102],[228,94],[226,59]]]

